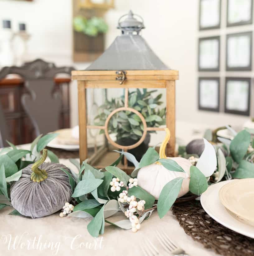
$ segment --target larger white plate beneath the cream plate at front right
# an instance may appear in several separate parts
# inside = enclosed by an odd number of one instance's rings
[[[220,202],[219,190],[226,184],[230,184],[235,180],[226,180],[218,182],[201,195],[200,202],[206,213],[223,226],[242,235],[254,238],[254,227],[244,224],[235,219]]]

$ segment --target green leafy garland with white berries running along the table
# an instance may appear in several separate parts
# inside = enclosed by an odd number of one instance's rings
[[[254,130],[245,129],[236,133],[232,128],[228,129],[234,136],[233,140],[218,137],[219,143],[212,145],[204,139],[205,149],[201,156],[195,161],[191,158],[193,165],[189,171],[189,190],[193,194],[199,196],[213,182],[232,178],[254,178],[254,140],[251,140],[251,133],[254,134]],[[205,136],[209,139],[208,135],[209,132],[206,132]],[[55,136],[57,135],[39,136],[32,143],[31,150],[18,150],[10,144],[11,148],[5,148],[0,152],[0,193],[5,196],[6,201],[10,201],[10,184],[19,180],[24,167],[40,159],[40,151]],[[137,176],[142,168],[153,164],[162,165],[169,172],[186,172],[173,159],[162,157],[162,149],[167,140],[168,138],[165,138],[163,141],[160,154],[154,148],[149,148],[138,162],[128,152],[121,152],[114,163],[100,170],[89,165],[87,161],[80,165],[77,160],[70,159],[78,171],[71,170],[70,173],[65,168],[61,169],[69,177],[72,201],[63,205],[60,217],[92,216],[87,229],[93,237],[104,233],[105,222],[136,232],[141,228],[143,220],[148,219],[155,209],[159,217],[163,218],[178,197],[183,178],[177,177],[169,181],[162,188],[158,200],[155,200],[153,195],[139,186]],[[221,147],[226,150],[226,156],[222,153]],[[181,154],[190,157],[186,155],[184,147],[181,147]],[[130,176],[117,167],[123,155],[135,165]],[[49,158],[53,162],[58,162],[57,156],[52,152],[49,153]],[[0,209],[10,204],[11,202],[2,203]],[[108,218],[119,211],[124,213],[125,218],[115,223],[111,222]],[[20,215],[16,210],[11,214]]]

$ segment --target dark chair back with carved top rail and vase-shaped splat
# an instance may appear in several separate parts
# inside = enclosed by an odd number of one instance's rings
[[[8,74],[18,74],[25,81],[27,89],[21,96],[21,103],[35,127],[35,135],[59,129],[60,95],[54,92],[54,77],[69,74],[73,67],[56,67],[54,63],[36,59],[23,66],[3,67],[0,79]]]

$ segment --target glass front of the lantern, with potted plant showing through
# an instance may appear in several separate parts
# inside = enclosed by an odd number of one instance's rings
[[[88,154],[101,153],[96,166],[111,165],[119,157],[113,150],[128,151],[140,161],[149,146],[164,139],[166,90],[130,88],[128,98],[125,93],[122,88],[87,89]]]

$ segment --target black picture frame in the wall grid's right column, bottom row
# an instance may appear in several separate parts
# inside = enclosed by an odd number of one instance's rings
[[[239,111],[227,109],[227,94],[228,94],[228,81],[247,81],[248,82],[248,109],[247,111]],[[225,78],[225,100],[224,112],[236,115],[249,116],[250,115],[250,98],[251,98],[251,78],[250,77],[226,77]]]

